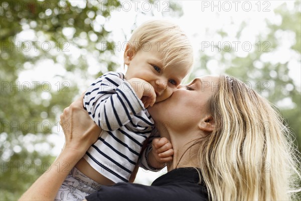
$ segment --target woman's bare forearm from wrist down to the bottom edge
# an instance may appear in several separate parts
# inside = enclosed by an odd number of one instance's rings
[[[70,170],[83,156],[78,150],[63,149],[50,168],[22,195],[19,200],[54,200]]]

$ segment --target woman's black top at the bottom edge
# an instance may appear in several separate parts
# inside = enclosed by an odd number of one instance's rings
[[[208,200],[206,186],[199,183],[195,168],[174,169],[159,178],[152,185],[137,183],[116,183],[102,186],[98,192],[86,196],[89,200]]]

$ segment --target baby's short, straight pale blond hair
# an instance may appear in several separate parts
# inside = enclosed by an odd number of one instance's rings
[[[156,48],[163,54],[163,67],[181,63],[187,68],[193,64],[193,48],[183,30],[166,20],[147,21],[134,30],[128,41],[128,54]]]

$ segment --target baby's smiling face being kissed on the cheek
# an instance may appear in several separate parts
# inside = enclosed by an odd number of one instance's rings
[[[128,66],[125,78],[140,78],[147,82],[145,84],[151,84],[157,95],[156,103],[170,97],[189,71],[189,67],[183,64],[163,68],[163,55],[157,46],[150,46],[147,51],[141,48],[133,56],[125,58]]]

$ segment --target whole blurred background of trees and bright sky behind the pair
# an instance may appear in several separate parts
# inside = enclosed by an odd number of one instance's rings
[[[227,73],[277,107],[301,151],[300,1],[1,1],[0,200],[17,200],[64,144],[59,115],[123,69],[131,32],[169,19],[194,46],[195,76]],[[166,169],[139,170],[150,184]]]

